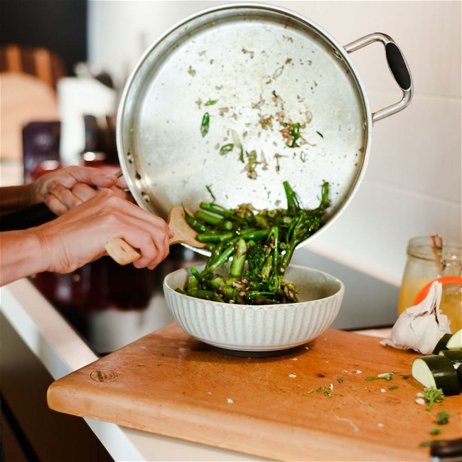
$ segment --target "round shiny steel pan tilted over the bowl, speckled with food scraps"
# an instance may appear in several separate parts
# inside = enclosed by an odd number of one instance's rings
[[[197,210],[211,193],[226,207],[285,207],[283,181],[315,208],[328,181],[330,222],[365,169],[369,114],[348,55],[318,26],[230,5],[146,51],[122,95],[117,146],[134,198],[162,217],[174,205]]]

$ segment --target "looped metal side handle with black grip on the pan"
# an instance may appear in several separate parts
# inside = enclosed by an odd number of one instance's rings
[[[390,36],[379,32],[371,33],[368,36],[358,38],[358,40],[348,43],[348,45],[345,45],[344,48],[347,53],[352,53],[353,51],[359,50],[360,48],[377,41],[381,42],[385,47],[388,67],[390,68],[390,72],[392,72],[394,80],[401,88],[403,97],[399,102],[390,104],[390,106],[379,109],[376,112],[372,112],[372,122],[377,122],[377,120],[384,119],[385,117],[402,111],[402,109],[407,107],[409,102],[411,102],[413,92],[411,72],[409,71],[401,50],[399,50],[398,45],[394,43]]]

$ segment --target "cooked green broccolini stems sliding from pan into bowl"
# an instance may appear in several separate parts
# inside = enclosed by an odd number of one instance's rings
[[[296,247],[323,225],[330,205],[329,184],[321,186],[321,201],[313,210],[284,181],[287,208],[254,210],[242,204],[227,209],[200,203],[186,221],[207,243],[210,257],[202,272],[192,269],[184,291],[216,301],[243,304],[293,303],[297,289],[284,273]]]

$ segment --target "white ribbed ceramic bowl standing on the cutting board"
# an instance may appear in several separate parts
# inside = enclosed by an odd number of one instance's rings
[[[237,305],[175,291],[183,289],[189,275],[188,269],[178,269],[163,281],[173,317],[193,337],[233,354],[276,352],[313,340],[331,326],[345,292],[343,283],[330,274],[290,265],[284,277],[299,289],[298,303]]]

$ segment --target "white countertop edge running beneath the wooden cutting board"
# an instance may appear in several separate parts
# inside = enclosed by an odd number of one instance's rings
[[[0,309],[54,380],[98,359],[28,279],[0,288]],[[114,461],[262,461],[243,453],[85,419]]]

